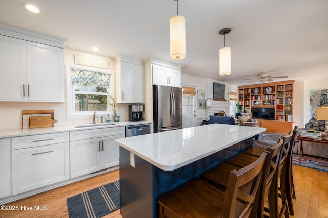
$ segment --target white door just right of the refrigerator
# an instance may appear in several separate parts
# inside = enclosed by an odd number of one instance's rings
[[[182,95],[183,128],[196,126],[195,97]]]

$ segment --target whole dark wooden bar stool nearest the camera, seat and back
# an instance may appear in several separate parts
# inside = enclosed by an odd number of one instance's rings
[[[194,178],[157,198],[163,217],[250,217],[257,208],[261,175],[268,153],[250,165],[230,172],[227,190]]]

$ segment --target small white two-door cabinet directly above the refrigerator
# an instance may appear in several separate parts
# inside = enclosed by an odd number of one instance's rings
[[[181,87],[181,71],[153,65],[153,85]]]

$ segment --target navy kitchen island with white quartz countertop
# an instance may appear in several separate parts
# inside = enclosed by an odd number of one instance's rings
[[[157,217],[158,196],[251,146],[265,130],[211,124],[116,139],[122,217]]]

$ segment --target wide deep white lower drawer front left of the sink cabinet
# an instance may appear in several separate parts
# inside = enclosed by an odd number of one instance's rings
[[[12,151],[13,195],[69,179],[69,142]]]

